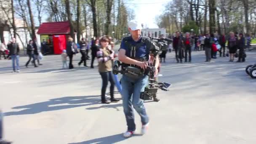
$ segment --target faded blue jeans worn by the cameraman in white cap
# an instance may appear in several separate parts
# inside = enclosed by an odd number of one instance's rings
[[[148,76],[145,75],[139,80],[131,80],[131,78],[123,75],[123,77],[121,78],[121,85],[123,111],[125,113],[128,131],[135,131],[136,125],[134,123],[133,108],[141,116],[142,125],[145,125],[149,122],[149,117],[147,116],[144,102],[142,99],[140,99],[141,92],[144,92],[145,87],[148,85]]]

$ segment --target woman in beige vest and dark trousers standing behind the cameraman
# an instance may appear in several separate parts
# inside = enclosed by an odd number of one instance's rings
[[[99,63],[99,73],[102,78],[102,88],[101,88],[101,103],[109,104],[110,102],[106,100],[105,94],[107,89],[108,81],[110,85],[110,96],[111,102],[117,102],[118,99],[114,98],[114,77],[112,74],[112,60],[114,59],[114,51],[111,51],[107,48],[109,45],[109,38],[104,36],[100,39],[101,48],[97,51],[97,59]]]

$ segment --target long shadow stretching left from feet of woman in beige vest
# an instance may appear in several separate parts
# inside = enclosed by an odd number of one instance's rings
[[[21,111],[14,111],[14,112],[5,112],[5,116],[11,115],[29,115],[29,114],[37,114],[40,112],[48,112],[60,109],[70,109],[75,107],[84,107],[90,106],[94,104],[101,104],[101,97],[100,96],[66,96],[57,99],[50,99],[49,101],[44,101],[35,104],[28,104],[19,107],[13,107],[12,109],[23,109]],[[115,108],[120,107],[121,104],[105,104],[100,107],[95,107],[91,109],[97,108]]]

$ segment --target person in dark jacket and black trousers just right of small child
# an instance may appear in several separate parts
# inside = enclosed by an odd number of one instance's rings
[[[67,55],[69,56],[69,69],[73,69],[73,55],[77,53],[77,45],[73,42],[73,38],[69,37],[68,38],[68,43],[67,43]]]

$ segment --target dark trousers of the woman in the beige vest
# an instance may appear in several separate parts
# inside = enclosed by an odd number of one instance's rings
[[[107,90],[107,84],[110,82],[110,96],[111,99],[114,98],[114,88],[115,88],[115,82],[114,82],[114,76],[112,74],[112,71],[109,72],[100,72],[101,79],[102,79],[102,87],[101,87],[101,101],[105,101],[106,97],[106,90]]]

